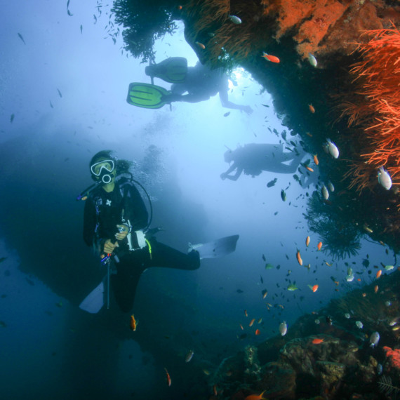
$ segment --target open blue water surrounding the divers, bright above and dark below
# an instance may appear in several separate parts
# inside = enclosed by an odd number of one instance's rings
[[[2,7],[0,399],[178,399],[188,387],[202,394],[209,382],[199,371],[212,371],[248,343],[276,334],[281,321],[290,329],[298,316],[373,279],[364,273],[362,281],[347,284],[343,261],[316,251],[319,236],[302,214],[305,192],[313,192],[317,179],[307,189],[293,174],[221,180],[227,147],[277,145],[280,137],[267,128],[284,130],[272,99],[251,76],[237,71],[239,86],[229,92],[229,100],[253,108],[251,116],[237,110],[224,116],[229,110],[218,97],[172,111],[132,107],[128,84],[149,82],[145,66],[121,54],[121,37],[116,44],[107,38],[109,7],[100,17],[95,6],[93,0],[71,2],[73,16],[66,2]],[[156,51],[156,61],[180,55],[196,63],[182,27],[157,42]],[[291,140],[300,138],[293,133]],[[159,241],[186,251],[189,241],[240,235],[234,254],[204,260],[194,272],[145,272],[133,310],[136,333],[114,303],[99,316],[77,307],[100,272],[81,239],[83,204],[74,199],[91,184],[88,161],[100,149],[136,162],[135,178],[152,197],[153,226],[165,229]],[[274,178],[276,185],[267,188]],[[298,265],[297,249],[310,270]],[[356,262],[354,272],[364,271],[367,253],[371,265],[394,263],[384,247],[363,241],[359,256],[346,260]],[[274,269],[266,270],[267,262]],[[338,292],[332,275],[340,280]],[[287,291],[294,281],[298,291]],[[308,284],[319,290],[312,293]],[[251,318],[262,322],[248,328]],[[239,340],[243,333],[247,338]],[[185,364],[189,349],[194,359]]]

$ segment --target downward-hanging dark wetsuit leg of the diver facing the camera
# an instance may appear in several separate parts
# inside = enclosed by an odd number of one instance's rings
[[[116,264],[116,274],[111,276],[114,298],[123,312],[130,312],[135,300],[136,287],[144,271],[140,252],[128,253]]]

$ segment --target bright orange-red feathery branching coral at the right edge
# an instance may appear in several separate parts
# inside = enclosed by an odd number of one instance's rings
[[[361,160],[354,161],[347,173],[354,176],[350,187],[359,191],[376,184],[371,171],[382,165],[392,182],[400,185],[400,32],[393,26],[364,34],[371,39],[359,44],[362,60],[351,69],[356,75],[356,99],[342,104],[349,126],[364,129]]]

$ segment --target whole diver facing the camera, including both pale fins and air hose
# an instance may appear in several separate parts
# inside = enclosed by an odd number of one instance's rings
[[[149,267],[193,270],[202,258],[232,253],[239,235],[227,236],[206,244],[189,244],[188,253],[161,244],[154,238],[159,228],[149,229],[152,205],[144,187],[133,180],[130,161],[117,160],[103,150],[90,162],[95,184],[76,200],[85,200],[84,241],[107,267],[105,276],[79,307],[95,314],[107,304],[110,284],[123,312],[130,312],[142,272]],[[150,204],[150,218],[136,185],[142,187]],[[104,267],[102,267],[104,268]]]

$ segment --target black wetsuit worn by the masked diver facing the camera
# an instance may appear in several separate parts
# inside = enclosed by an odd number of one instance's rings
[[[97,208],[97,211],[96,211]],[[105,192],[101,187],[95,189],[86,200],[84,214],[84,241],[88,246],[94,246],[98,253],[102,252],[105,241],[116,241],[118,232],[116,225],[131,223],[131,248],[128,246],[128,236],[119,241],[115,253],[119,258],[116,262],[116,274],[111,277],[114,297],[124,312],[130,312],[135,299],[136,286],[140,275],[149,267],[169,267],[177,269],[197,269],[200,266],[199,253],[181,253],[171,247],[161,244],[154,238],[149,238],[148,244],[139,248],[135,231],[147,226],[147,210],[138,189],[130,181],[122,178],[115,182],[112,192]]]

